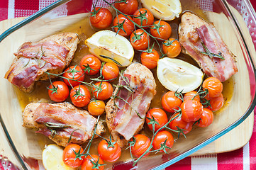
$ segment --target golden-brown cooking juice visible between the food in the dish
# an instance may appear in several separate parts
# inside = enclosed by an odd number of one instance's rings
[[[189,0],[181,0],[181,3],[182,3],[182,11],[187,11],[187,10],[193,11],[197,15],[199,15],[203,18],[206,18],[204,11],[201,11],[199,9],[199,7],[197,6],[197,4],[193,4],[193,3],[191,4],[191,1],[189,1]],[[207,18],[206,18],[206,20],[207,20]],[[177,28],[179,26],[179,22],[180,22],[180,18],[177,18],[177,19],[174,19],[174,21],[168,22],[170,24],[170,26],[172,27],[172,35],[171,35],[172,38],[178,38]],[[79,21],[78,23],[72,24],[72,26],[69,26],[69,27],[63,29],[62,31],[60,31],[60,33],[65,33],[65,32],[73,32],[73,33],[77,33],[79,35],[80,43],[77,47],[77,51],[74,54],[74,59],[72,60],[72,62],[70,64],[70,65],[75,65],[75,64],[79,65],[79,62],[82,59],[82,57],[84,57],[84,55],[89,54],[88,47],[86,45],[84,45],[84,40],[91,37],[91,35],[93,35],[96,32],[96,29],[91,28],[90,23],[89,23],[89,18],[87,17],[87,18],[81,18],[81,21]],[[156,45],[155,45],[155,47],[156,47]],[[134,56],[133,61],[140,62],[139,56],[140,56],[140,52],[135,51],[135,56]],[[184,55],[183,53],[181,53],[177,58],[184,60],[186,62],[189,62],[191,64],[194,64],[196,67],[198,67],[198,64],[196,64],[196,62],[188,55]],[[165,94],[168,90],[165,89],[165,87],[162,86],[162,84],[160,84],[160,81],[158,81],[156,68],[152,69],[151,71],[155,77],[155,82],[157,84],[157,88],[156,88],[157,94],[152,99],[150,108],[162,108],[160,99],[162,98],[163,94]],[[86,76],[84,81],[89,81],[90,78],[94,78],[94,77],[98,77],[98,75],[90,76],[90,77]],[[55,79],[52,79],[52,81],[53,80],[55,80]],[[116,81],[113,81],[112,84],[118,84],[118,79],[116,79]],[[233,82],[232,78],[228,79],[227,81],[225,81],[223,83],[223,96],[224,96],[225,102],[224,102],[224,106],[222,109],[225,109],[226,106],[228,106],[228,103],[233,96],[233,90],[234,90],[233,84],[234,84],[234,82]],[[46,88],[46,86],[49,86],[49,85],[50,85],[49,81],[39,81],[36,83],[35,89],[30,94],[26,94],[23,91],[16,89],[16,94],[18,96],[18,100],[20,101],[21,108],[24,109],[26,107],[26,105],[31,102],[52,103],[52,101],[50,100],[50,98],[48,96],[48,89]],[[89,89],[90,89],[90,87],[89,87]],[[71,102],[70,98],[67,98],[67,101]],[[87,108],[85,108],[85,109],[87,110]],[[221,110],[217,111],[215,113],[215,115],[218,113],[221,113]],[[169,118],[170,114],[167,113],[167,116]],[[104,115],[101,115],[101,119],[104,120],[104,118],[105,118]],[[149,130],[148,125],[146,125],[146,124],[144,125],[144,128],[141,131],[141,133],[144,135],[148,135],[149,137],[152,136],[152,132]],[[191,130],[190,133],[193,134],[193,130]],[[175,135],[174,133],[172,133],[172,134],[174,135],[174,139],[175,138],[177,139],[177,135]],[[41,149],[43,149],[43,147],[45,147],[45,145],[53,143],[52,141],[48,140],[48,137],[45,137],[40,134],[35,134],[35,135],[38,137],[37,138],[38,145],[40,145]],[[105,137],[108,137],[108,136],[109,136],[109,132],[107,132]],[[181,138],[182,138],[181,140],[185,140],[185,139],[183,139],[184,137],[181,137]],[[101,141],[100,137],[94,139],[94,142],[91,145],[91,149],[90,149],[91,154],[97,154],[97,146],[100,141]],[[179,142],[179,141],[177,141],[177,142]],[[174,142],[174,147],[175,147],[175,142]],[[155,155],[155,154],[152,154],[152,155]],[[118,159],[118,161],[125,162],[128,159],[130,159],[129,149],[122,149],[121,158]],[[109,164],[109,163],[104,162],[104,164]]]

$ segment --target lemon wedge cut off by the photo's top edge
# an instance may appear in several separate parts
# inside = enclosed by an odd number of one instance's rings
[[[145,8],[148,8],[155,18],[165,21],[178,18],[182,12],[182,4],[179,0],[141,0]]]

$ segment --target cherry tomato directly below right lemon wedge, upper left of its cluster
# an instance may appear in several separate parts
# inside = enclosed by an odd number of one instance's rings
[[[182,100],[175,96],[174,91],[168,91],[164,96],[162,96],[162,108],[167,112],[174,113],[174,109],[177,110],[181,104]]]

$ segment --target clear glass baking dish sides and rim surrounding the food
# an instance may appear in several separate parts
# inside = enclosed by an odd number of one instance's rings
[[[187,134],[187,139],[181,137],[174,142],[169,154],[152,154],[141,159],[134,167],[130,161],[117,162],[108,165],[109,169],[163,169],[237,127],[255,108],[255,48],[252,42],[256,47],[256,18],[250,2],[247,0],[195,0],[189,1],[189,4],[186,0],[181,2],[182,11],[194,11],[202,18],[212,21],[216,28],[221,30],[223,40],[227,41],[230,50],[237,55],[238,73],[228,81],[232,84],[228,88],[233,89],[232,92],[229,91],[231,94],[228,94],[231,97],[226,101],[225,107],[215,115],[210,127],[194,128]],[[4,74],[13,61],[13,52],[16,52],[23,42],[37,41],[64,31],[76,30],[80,38],[88,38],[93,30],[84,33],[82,24],[89,24],[86,18],[89,16],[87,11],[91,10],[91,4],[92,1],[84,0],[56,1],[0,35],[0,57],[3,61],[0,67],[0,121],[13,154],[19,162],[17,165],[19,169],[35,169],[36,164],[39,169],[43,169],[40,163],[41,153],[43,146],[49,141],[21,126],[22,96],[18,96],[16,88],[4,79]],[[196,4],[196,8],[191,7],[194,6],[191,4]],[[226,23],[226,28],[222,28],[223,23]],[[225,31],[226,29],[228,31]],[[228,40],[230,38],[232,40]]]

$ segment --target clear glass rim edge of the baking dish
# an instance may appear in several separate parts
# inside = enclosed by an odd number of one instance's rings
[[[2,33],[0,35],[0,42],[2,40],[4,40],[4,38],[6,38],[8,35],[13,33],[15,30],[18,30],[19,28],[25,26],[26,24],[30,23],[31,21],[35,20],[36,18],[39,18],[40,16],[43,16],[43,14],[47,13],[48,11],[51,11],[53,8],[56,8],[57,6],[65,4],[68,1],[72,1],[72,0],[58,0],[58,1],[55,1],[54,3],[50,4],[49,6],[46,6],[45,8],[41,9],[40,11],[34,13],[32,16],[29,16],[28,18],[24,19],[23,21],[17,23],[15,26],[12,26],[11,28],[4,31],[4,33]],[[248,57],[249,57],[250,62],[252,64],[253,72],[255,73],[256,72],[255,64],[252,62],[253,60],[252,60],[252,57],[251,57],[251,54],[250,54],[250,50],[248,50],[247,44],[245,42],[245,39],[243,38],[243,34],[242,34],[242,31],[240,30],[239,24],[235,20],[235,17],[233,16],[232,12],[230,11],[230,8],[228,7],[228,2],[226,0],[221,0],[221,1],[223,1],[223,4],[225,5],[226,9],[228,10],[228,14],[230,15],[230,18],[232,19],[233,23],[235,23],[236,28],[238,28],[240,36],[241,36],[241,38],[243,40],[243,43],[245,45],[245,49],[247,51]],[[243,1],[247,2],[246,3],[247,7],[250,7],[250,10],[252,10],[252,5],[250,4],[250,2],[247,1],[247,0],[243,0]],[[253,13],[255,14],[255,11],[253,11]],[[256,79],[256,75],[255,75],[255,79]],[[188,157],[190,154],[193,154],[194,152],[198,151],[199,149],[201,149],[201,148],[205,147],[206,145],[210,144],[211,142],[217,140],[219,137],[225,135],[227,132],[229,132],[230,130],[233,130],[233,128],[240,125],[240,123],[243,123],[243,121],[252,113],[252,111],[254,111],[255,106],[256,106],[256,91],[253,94],[252,103],[249,106],[249,108],[247,109],[247,111],[238,120],[236,120],[233,124],[231,124],[230,126],[228,126],[225,129],[221,130],[221,132],[218,132],[216,135],[213,135],[208,140],[205,140],[204,142],[201,142],[199,145],[196,145],[196,147],[193,147],[193,148],[189,149],[187,152],[184,152],[183,154],[180,154],[179,156],[175,157],[174,159],[171,159],[168,162],[165,162],[165,163],[161,164],[160,166],[157,166],[153,169],[155,169],[155,170],[156,169],[164,169],[167,166],[170,166],[171,164],[174,164],[174,163],[178,162],[179,160],[184,159],[185,157]],[[16,154],[15,156],[18,159],[18,162],[21,164],[21,167],[23,169],[28,170],[26,164],[23,162],[23,159],[22,159],[21,155],[18,153],[18,150],[16,149],[16,146],[13,144],[13,140],[11,140],[11,136],[9,135],[9,132],[6,128],[6,125],[4,124],[3,119],[1,118],[1,113],[0,113],[0,124],[1,124],[1,126],[4,130],[4,133],[6,135],[6,138],[7,138],[8,142],[9,142],[9,145],[11,146],[11,149],[13,150],[13,153]]]

